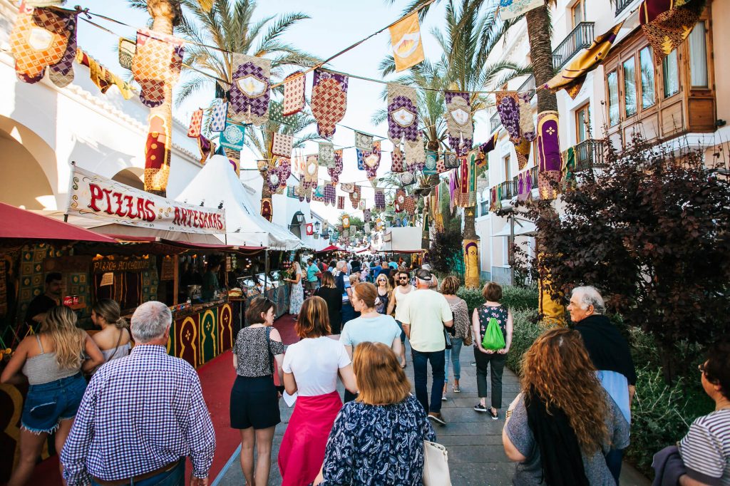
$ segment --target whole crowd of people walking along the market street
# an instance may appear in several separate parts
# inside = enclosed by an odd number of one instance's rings
[[[298,342],[285,347],[273,327],[274,303],[259,296],[234,343],[230,425],[240,433],[247,485],[269,483],[283,396],[296,398],[277,454],[283,485],[420,484],[424,441],[447,426],[441,408],[450,376],[453,393],[461,393],[465,345],[473,346],[476,366],[474,409],[504,420],[515,485],[618,484],[636,371],[595,288],[575,288],[573,325],[545,331],[531,345],[520,393],[502,414],[514,320],[498,284],[484,286],[485,302],[469,316],[459,279],[439,286],[427,266],[411,273],[393,261],[394,269],[381,261],[319,263],[302,270],[295,262],[288,279],[302,290],[291,308]],[[169,308],[146,302],[128,326],[118,304],[99,301],[92,320],[101,331],[93,339],[64,306],[40,314],[31,316],[39,332],[20,342],[0,377],[30,384],[9,485],[28,482],[54,432],[67,485],[183,485],[186,458],[191,485],[209,484],[215,431],[198,374],[167,353]],[[715,412],[658,453],[657,484],[730,484],[730,343],[715,344],[699,371]]]

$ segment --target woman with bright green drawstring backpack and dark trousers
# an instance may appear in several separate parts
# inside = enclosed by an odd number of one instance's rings
[[[499,418],[502,408],[502,372],[507,362],[507,352],[512,344],[512,311],[499,303],[502,285],[488,282],[482,290],[485,303],[474,309],[472,327],[477,337],[474,342],[474,358],[477,362],[477,412],[489,412],[492,420]],[[492,382],[491,409],[487,409],[487,366]]]

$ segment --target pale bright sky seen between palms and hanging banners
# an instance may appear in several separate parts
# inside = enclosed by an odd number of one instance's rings
[[[408,3],[410,3],[409,0],[396,0],[393,4],[385,0],[259,1],[255,9],[255,20],[280,15],[285,12],[303,12],[309,15],[310,19],[301,20],[290,28],[283,36],[283,40],[299,47],[301,50],[318,55],[320,58],[328,58],[339,50],[358,42],[397,20]],[[439,2],[436,7],[432,7],[426,20],[421,25],[424,51],[426,58],[430,60],[436,60],[442,54],[436,39],[431,35],[431,30],[442,25],[445,12],[444,5],[445,2]],[[128,7],[125,0],[85,0],[82,7],[88,7],[90,12],[115,18],[134,27],[144,27],[149,18],[147,12]],[[93,21],[109,28],[117,36],[134,39],[136,34],[136,28],[120,26],[101,18],[94,18]],[[80,22],[79,24],[78,42],[80,47],[101,61],[104,66],[112,69],[112,72],[122,73],[123,70],[119,66],[116,53],[118,37],[101,31],[88,23]],[[341,72],[380,79],[378,65],[385,55],[391,53],[389,42],[390,35],[386,30],[334,59],[327,67]],[[311,88],[312,74],[309,74],[307,77],[307,96],[309,96]],[[373,113],[385,105],[385,101],[382,99],[384,88],[385,85],[380,83],[350,78],[347,90],[347,112],[341,123],[369,134],[384,137],[388,131],[387,123],[382,123],[380,126],[374,126],[371,123]],[[193,110],[198,107],[209,106],[210,100],[215,96],[214,89],[213,82],[210,82],[206,88],[196,93],[182,106],[176,107],[174,116],[183,123],[188,123]],[[477,115],[477,128],[479,125],[488,125],[487,115]],[[315,126],[312,126],[311,130],[315,132]],[[332,142],[335,148],[350,147],[354,142],[354,133],[352,130],[338,126]],[[391,147],[390,142],[383,142],[383,158],[377,173],[379,177],[390,170]],[[140,150],[144,150],[143,147],[140,147]],[[310,142],[303,150],[303,155],[316,152],[317,144]],[[256,158],[250,151],[242,153],[242,168],[254,168]],[[345,150],[344,165],[345,169],[340,176],[340,182],[366,182],[364,171],[358,171],[356,167],[356,151],[354,148]],[[174,171],[174,167],[171,167],[171,170]],[[252,180],[251,174],[254,173],[242,172],[242,178]],[[326,169],[320,169],[320,179],[329,179]],[[252,180],[248,183],[258,185],[260,184],[260,178],[258,181]],[[372,207],[372,194],[372,189],[366,188],[363,190],[363,196],[369,202],[368,207]],[[342,193],[338,191],[338,195],[342,195]],[[361,215],[361,212],[348,211],[350,209],[349,201],[347,201],[345,207],[345,212]],[[342,212],[316,202],[312,202],[312,209],[333,222],[337,220]],[[274,211],[276,210],[276,207],[274,207]]]

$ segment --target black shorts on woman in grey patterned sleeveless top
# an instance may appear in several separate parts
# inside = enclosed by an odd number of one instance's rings
[[[231,428],[269,428],[280,422],[274,379],[236,377],[231,390]]]

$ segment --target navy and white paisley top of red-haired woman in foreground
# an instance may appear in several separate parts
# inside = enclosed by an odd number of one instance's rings
[[[351,401],[329,434],[320,484],[420,485],[424,440],[436,434],[414,396],[393,405]]]

